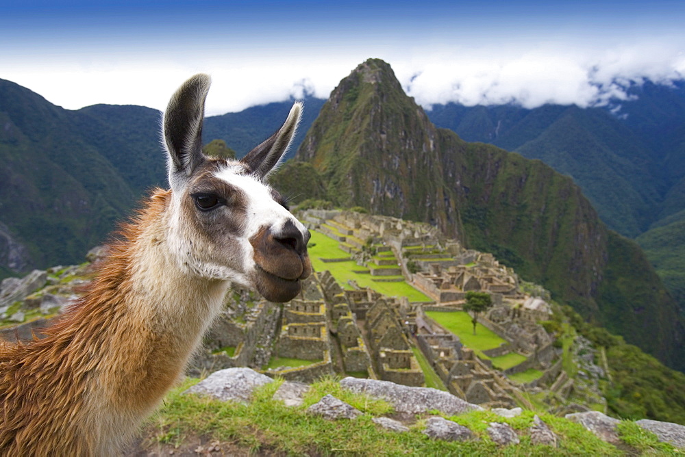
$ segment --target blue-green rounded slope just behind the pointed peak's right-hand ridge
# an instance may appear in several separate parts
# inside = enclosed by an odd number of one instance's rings
[[[611,229],[634,237],[660,212],[668,184],[646,140],[604,109],[436,106],[428,113],[464,140],[540,159],[573,177]]]

